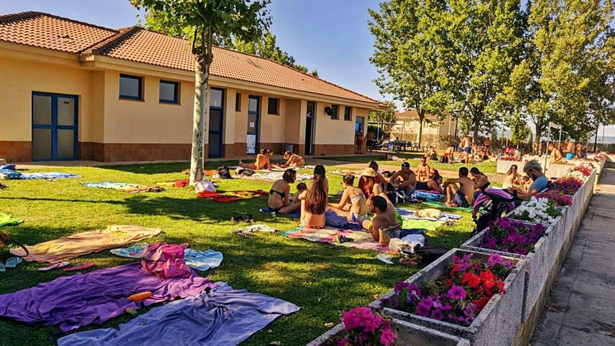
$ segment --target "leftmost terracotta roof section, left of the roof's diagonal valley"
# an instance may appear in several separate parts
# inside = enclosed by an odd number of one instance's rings
[[[41,12],[0,16],[0,41],[61,52],[82,52],[116,33],[113,29]]]

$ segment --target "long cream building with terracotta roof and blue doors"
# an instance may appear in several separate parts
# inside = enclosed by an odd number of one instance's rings
[[[354,152],[374,99],[215,47],[206,152]],[[182,38],[41,12],[0,15],[0,158],[187,160],[194,57]],[[327,110],[327,111],[325,111]]]

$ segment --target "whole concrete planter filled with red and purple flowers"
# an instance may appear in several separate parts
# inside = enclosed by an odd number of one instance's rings
[[[524,276],[523,260],[453,249],[371,307],[473,345],[510,345],[521,324]]]

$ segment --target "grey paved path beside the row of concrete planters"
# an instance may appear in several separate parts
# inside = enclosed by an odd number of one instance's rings
[[[615,345],[615,169],[602,172],[532,345]]]

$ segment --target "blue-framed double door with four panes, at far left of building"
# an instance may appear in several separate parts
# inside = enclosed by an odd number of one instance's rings
[[[77,95],[32,92],[33,161],[77,159]]]

